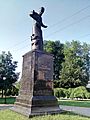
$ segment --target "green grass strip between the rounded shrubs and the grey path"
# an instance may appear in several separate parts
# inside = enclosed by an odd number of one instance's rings
[[[90,107],[90,101],[59,100],[59,105]]]

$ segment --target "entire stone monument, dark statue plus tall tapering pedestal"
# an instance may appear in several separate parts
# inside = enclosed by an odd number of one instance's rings
[[[12,108],[28,117],[60,112],[53,93],[53,55],[43,51],[41,27],[47,27],[42,22],[43,13],[41,7],[39,13],[33,10],[30,14],[34,19],[32,50],[23,55],[21,88]]]

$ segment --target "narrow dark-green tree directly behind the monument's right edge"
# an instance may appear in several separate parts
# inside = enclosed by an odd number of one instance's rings
[[[44,50],[53,54],[54,58],[54,80],[60,79],[61,63],[64,61],[63,44],[60,41],[44,41]]]

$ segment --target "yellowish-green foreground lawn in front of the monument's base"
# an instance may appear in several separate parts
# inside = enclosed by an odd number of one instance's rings
[[[1,110],[0,120],[90,120],[90,118],[69,112],[58,115],[45,115],[28,118],[11,110]]]

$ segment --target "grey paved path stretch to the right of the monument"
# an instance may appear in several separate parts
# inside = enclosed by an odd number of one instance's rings
[[[86,107],[75,107],[75,106],[64,106],[60,105],[60,108],[65,111],[72,111],[74,113],[90,117],[90,108]]]

